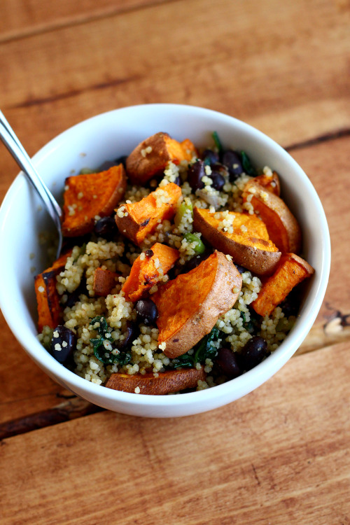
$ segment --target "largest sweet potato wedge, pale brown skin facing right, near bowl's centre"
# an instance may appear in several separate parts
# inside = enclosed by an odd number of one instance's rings
[[[178,275],[153,294],[158,340],[165,355],[181,356],[207,335],[218,317],[235,304],[241,283],[231,260],[215,251],[197,268]]]

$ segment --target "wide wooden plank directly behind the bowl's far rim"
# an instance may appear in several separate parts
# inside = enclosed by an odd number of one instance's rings
[[[349,127],[348,14],[326,0],[176,1],[11,41],[3,109],[31,152],[92,114],[169,100],[302,141]]]

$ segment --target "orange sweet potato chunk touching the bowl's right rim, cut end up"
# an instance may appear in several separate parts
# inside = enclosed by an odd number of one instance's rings
[[[286,299],[290,290],[314,271],[306,260],[295,253],[283,253],[276,272],[265,281],[251,306],[260,316],[269,316]]]

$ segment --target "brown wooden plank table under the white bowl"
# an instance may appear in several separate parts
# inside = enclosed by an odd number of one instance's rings
[[[207,106],[288,149],[332,238],[297,356],[199,416],[78,400],[1,317],[1,524],[350,523],[349,22],[349,0],[1,1],[1,109],[29,154],[102,111]],[[17,172],[0,144],[1,200]]]

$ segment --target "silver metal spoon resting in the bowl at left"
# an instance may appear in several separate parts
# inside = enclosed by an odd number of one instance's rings
[[[48,210],[48,214],[52,218],[52,221],[55,223],[58,232],[58,247],[57,247],[57,258],[61,253],[62,248],[62,230],[61,230],[61,218],[62,218],[62,209],[55,200],[55,197],[52,195],[48,187],[45,185],[41,176],[36,172],[34,165],[31,163],[29,155],[23,148],[22,144],[18,140],[15,132],[12,127],[8,124],[5,116],[3,116],[2,111],[0,110],[0,139],[5,144],[6,148],[13,156],[15,161],[18,163],[22,172],[27,176],[27,179],[36,189],[36,192],[43,200],[43,204]]]

